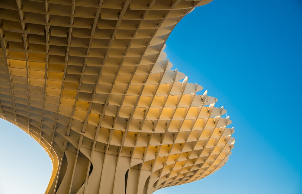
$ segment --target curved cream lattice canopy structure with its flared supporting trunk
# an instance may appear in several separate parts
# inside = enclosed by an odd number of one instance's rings
[[[233,128],[166,59],[209,1],[0,1],[1,118],[49,153],[46,193],[144,193],[222,167]]]

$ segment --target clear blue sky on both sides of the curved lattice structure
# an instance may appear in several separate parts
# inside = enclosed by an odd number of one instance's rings
[[[155,194],[301,194],[302,2],[214,0],[188,14],[166,44],[173,68],[228,111],[236,143],[214,174]],[[2,120],[1,128],[0,193],[43,193],[47,154],[22,130]]]

